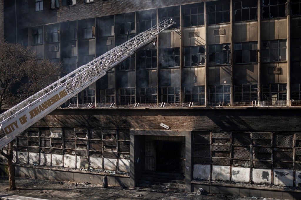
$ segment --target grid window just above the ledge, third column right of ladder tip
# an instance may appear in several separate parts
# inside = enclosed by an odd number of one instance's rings
[[[234,86],[235,102],[251,102],[258,100],[258,85],[245,84]]]

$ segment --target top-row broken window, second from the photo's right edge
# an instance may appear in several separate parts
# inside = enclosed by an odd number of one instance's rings
[[[286,0],[263,0],[262,18],[285,17]]]

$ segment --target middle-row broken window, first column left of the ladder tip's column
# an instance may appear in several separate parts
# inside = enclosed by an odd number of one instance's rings
[[[137,56],[137,69],[157,68],[157,49],[140,50]]]

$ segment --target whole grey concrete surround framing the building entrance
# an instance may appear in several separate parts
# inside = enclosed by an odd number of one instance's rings
[[[141,177],[141,141],[147,135],[185,137],[185,191],[191,192],[192,130],[130,130],[130,187],[136,187]]]

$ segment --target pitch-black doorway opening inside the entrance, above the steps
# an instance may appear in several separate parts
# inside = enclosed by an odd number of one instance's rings
[[[155,141],[156,171],[180,173],[180,142]]]

